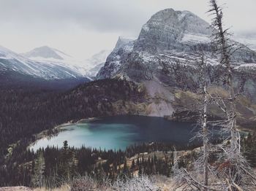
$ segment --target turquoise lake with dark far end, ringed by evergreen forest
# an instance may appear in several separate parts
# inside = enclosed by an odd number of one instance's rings
[[[125,149],[143,142],[189,144],[195,135],[195,124],[172,122],[162,117],[116,116],[83,121],[62,128],[57,136],[39,139],[30,149],[62,147],[68,141],[71,147]]]

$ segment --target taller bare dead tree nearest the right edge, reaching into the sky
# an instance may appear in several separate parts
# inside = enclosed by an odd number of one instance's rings
[[[211,23],[211,28],[214,28],[214,34],[212,36],[212,42],[214,44],[215,52],[220,55],[221,61],[219,66],[223,69],[223,75],[225,79],[225,85],[227,87],[227,97],[222,95],[216,95],[211,98],[215,104],[219,106],[219,109],[224,112],[227,120],[221,123],[224,127],[224,132],[227,135],[230,145],[227,141],[219,145],[221,150],[220,160],[223,163],[219,165],[219,177],[222,182],[226,182],[226,188],[228,190],[242,190],[241,187],[251,187],[256,189],[255,176],[250,169],[244,156],[241,154],[241,136],[236,124],[236,94],[233,85],[233,66],[231,64],[231,55],[233,54],[234,47],[230,41],[230,34],[228,28],[224,29],[222,7],[219,7],[217,0],[210,0],[211,9],[208,11],[214,18]]]

